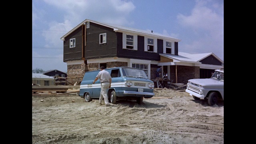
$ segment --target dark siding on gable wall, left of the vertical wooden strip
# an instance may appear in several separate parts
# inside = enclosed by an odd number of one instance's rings
[[[76,38],[76,47],[69,48],[69,40]],[[74,32],[66,36],[63,42],[63,62],[72,60],[82,60],[82,26],[77,28]]]

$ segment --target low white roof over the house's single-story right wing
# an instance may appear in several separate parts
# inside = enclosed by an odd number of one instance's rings
[[[201,64],[200,60],[212,55],[216,59],[218,59],[222,64],[224,63],[218,56],[214,53],[202,53],[202,54],[189,54],[186,52],[178,52],[178,56],[172,54],[159,54],[160,56],[164,56],[166,58],[171,58],[176,60],[176,62],[190,62],[195,64]],[[175,62],[175,61],[174,61]]]

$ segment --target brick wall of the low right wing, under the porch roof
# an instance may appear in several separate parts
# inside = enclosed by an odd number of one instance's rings
[[[170,79],[176,83],[176,66],[170,66]],[[177,66],[177,83],[187,84],[189,79],[200,78],[199,66]]]

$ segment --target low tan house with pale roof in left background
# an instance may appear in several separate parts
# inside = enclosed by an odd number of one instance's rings
[[[32,84],[40,86],[54,86],[55,80],[51,76],[32,73]]]

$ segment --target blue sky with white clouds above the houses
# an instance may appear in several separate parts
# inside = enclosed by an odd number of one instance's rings
[[[32,0],[32,70],[67,72],[62,36],[89,19],[180,39],[224,61],[224,0]]]

